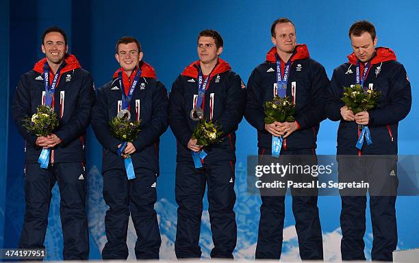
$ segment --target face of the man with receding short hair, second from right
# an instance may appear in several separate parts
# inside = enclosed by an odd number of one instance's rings
[[[271,38],[273,45],[283,53],[292,53],[296,45],[295,27],[292,23],[275,25],[275,37]]]

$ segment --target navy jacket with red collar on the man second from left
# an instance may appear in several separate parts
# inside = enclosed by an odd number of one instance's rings
[[[141,132],[134,140],[136,152],[131,154],[134,171],[139,168],[149,168],[157,175],[159,169],[160,136],[168,127],[167,90],[162,82],[155,77],[152,66],[140,62],[141,75],[129,104],[131,121],[141,120]],[[99,88],[97,100],[92,110],[92,127],[97,140],[103,146],[102,173],[110,169],[123,169],[123,158],[118,155],[118,145],[122,143],[112,137],[109,122],[118,114],[121,108],[122,93],[118,81],[119,68],[114,79]],[[130,77],[123,72],[123,85],[129,89],[134,75]]]

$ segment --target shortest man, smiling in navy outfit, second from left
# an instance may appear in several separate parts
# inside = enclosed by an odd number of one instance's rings
[[[166,88],[156,79],[154,68],[142,61],[142,56],[136,38],[126,36],[116,42],[115,58],[120,68],[112,81],[97,92],[92,112],[94,133],[103,146],[103,198],[109,205],[105,216],[107,243],[102,251],[103,260],[128,258],[129,214],[138,236],[136,258],[159,258],[162,240],[154,204],[159,141],[168,126],[168,98]],[[118,149],[123,142],[112,137],[109,122],[125,110],[130,112],[131,121],[141,121],[141,131],[134,142],[127,143],[121,155]],[[134,166],[134,179],[128,179],[125,171],[123,158],[127,155],[131,156]]]

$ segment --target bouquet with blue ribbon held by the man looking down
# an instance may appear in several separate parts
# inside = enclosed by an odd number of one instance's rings
[[[344,87],[342,101],[349,110],[352,110],[353,114],[357,114],[372,110],[378,105],[377,101],[380,97],[381,92],[379,90],[373,90],[372,88],[364,89],[361,85],[356,84],[352,87]],[[367,125],[358,125],[358,127],[361,129],[361,135],[355,147],[361,150],[362,145],[364,145],[364,137],[366,138],[367,145],[371,145],[372,140],[370,129],[368,129]]]

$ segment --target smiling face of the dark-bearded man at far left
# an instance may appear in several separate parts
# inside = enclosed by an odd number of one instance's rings
[[[45,53],[49,63],[61,64],[64,61],[64,55],[68,51],[68,46],[61,33],[49,32],[45,35],[41,49]]]

